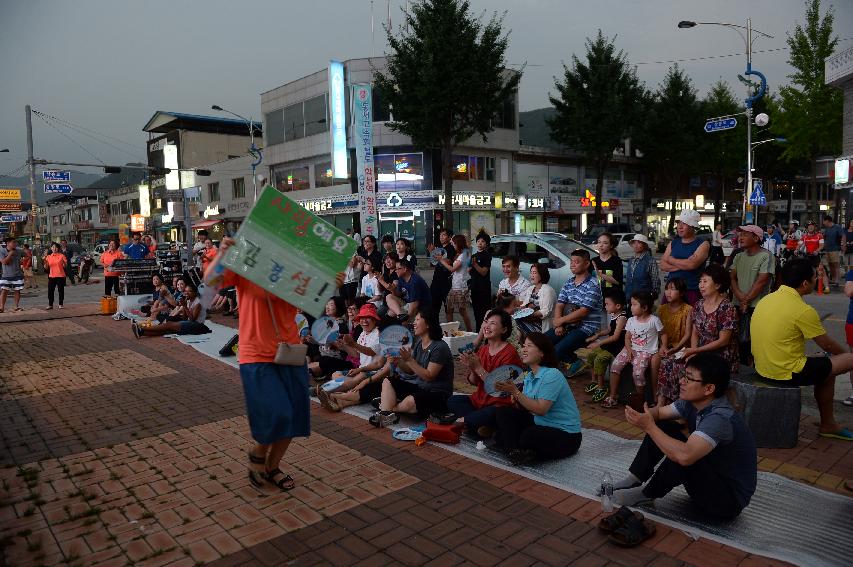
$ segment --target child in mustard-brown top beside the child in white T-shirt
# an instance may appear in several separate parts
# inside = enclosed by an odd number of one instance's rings
[[[682,348],[689,346],[692,322],[690,313],[693,308],[684,301],[687,294],[687,282],[682,278],[673,278],[666,282],[663,291],[667,303],[658,309],[663,323],[663,337],[658,353],[652,357],[652,380],[657,380],[657,403],[663,407],[678,399],[679,383],[683,367],[669,364],[666,359],[674,356]],[[664,360],[664,364],[661,361]]]

